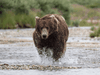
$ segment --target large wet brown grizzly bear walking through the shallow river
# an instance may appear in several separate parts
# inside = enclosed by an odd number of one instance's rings
[[[43,55],[45,47],[45,53],[48,55],[48,48],[52,49],[52,58],[55,61],[61,58],[66,51],[66,41],[69,35],[65,19],[57,14],[48,14],[42,18],[36,17],[35,28],[33,40],[39,55]]]

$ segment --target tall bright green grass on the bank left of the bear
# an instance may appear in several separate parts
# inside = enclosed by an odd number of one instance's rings
[[[16,25],[19,24],[23,28],[24,25],[29,25],[30,27],[35,27],[35,12],[30,11],[27,14],[15,14],[12,11],[7,11],[0,16],[0,29],[14,29]]]

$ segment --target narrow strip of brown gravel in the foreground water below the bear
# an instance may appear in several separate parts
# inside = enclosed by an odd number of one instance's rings
[[[0,70],[62,70],[62,69],[80,69],[82,67],[60,67],[60,66],[42,66],[42,65],[8,65],[0,64]]]

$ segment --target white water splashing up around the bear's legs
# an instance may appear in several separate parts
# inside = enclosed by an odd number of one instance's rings
[[[42,55],[39,55],[38,51],[42,51]],[[46,51],[46,52],[45,52]],[[52,58],[52,55],[53,55],[53,50],[50,49],[50,48],[46,48],[44,47],[42,50],[41,49],[38,49],[37,50],[37,53],[38,53],[38,60],[39,60],[39,64],[40,65],[52,65],[52,66],[62,66],[66,63],[66,61],[68,61],[68,59],[66,58],[67,56],[66,55],[63,55],[61,58],[59,58],[58,61],[55,61],[53,58]],[[65,53],[66,54],[66,53]]]

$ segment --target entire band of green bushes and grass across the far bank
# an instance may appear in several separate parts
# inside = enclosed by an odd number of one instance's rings
[[[0,0],[0,29],[35,26],[35,16],[62,15],[69,26],[93,26],[100,19],[100,0]],[[80,21],[81,20],[81,21]]]

